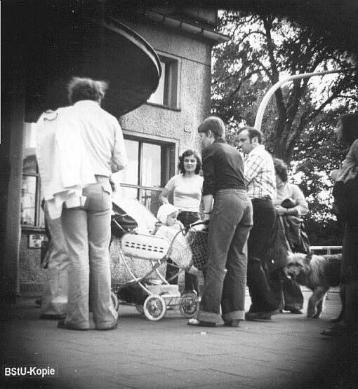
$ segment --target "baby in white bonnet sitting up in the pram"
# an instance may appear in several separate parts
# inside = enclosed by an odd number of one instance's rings
[[[171,264],[179,270],[179,268],[185,267],[185,265],[188,264],[188,261],[190,261],[190,266],[186,266],[185,271],[197,275],[199,270],[192,266],[192,250],[190,250],[187,236],[180,233],[180,231],[184,231],[184,226],[177,220],[178,213],[179,210],[174,207],[174,205],[161,205],[157,213],[159,223],[154,230],[154,235],[166,238],[168,242],[172,242],[175,238],[167,264]],[[178,271],[174,274],[174,276],[168,275],[167,272],[166,280],[170,284],[178,284]]]

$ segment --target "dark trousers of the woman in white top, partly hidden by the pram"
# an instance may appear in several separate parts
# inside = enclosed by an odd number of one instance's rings
[[[195,221],[200,220],[199,212],[179,212],[178,218],[179,221],[183,223],[183,226],[186,228]],[[169,284],[177,285],[178,284],[178,267],[175,266],[171,259],[168,259],[166,265],[166,280]],[[185,291],[195,290],[199,295],[199,278],[197,275],[190,273],[185,273]]]

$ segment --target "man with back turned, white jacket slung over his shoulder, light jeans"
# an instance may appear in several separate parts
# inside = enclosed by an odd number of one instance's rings
[[[72,106],[59,109],[55,119],[73,123],[70,128],[58,130],[56,150],[60,168],[58,172],[51,170],[63,186],[72,185],[65,195],[51,193],[56,207],[63,203],[61,221],[70,257],[67,317],[58,323],[58,327],[65,329],[90,328],[90,298],[95,329],[117,327],[118,315],[111,303],[108,250],[112,211],[110,176],[126,167],[127,156],[117,118],[100,107],[106,89],[107,83],[102,81],[72,79],[68,86]],[[67,144],[64,133],[71,134],[71,131],[76,132],[72,142],[78,142],[78,148],[77,144]],[[88,163],[86,170],[93,175],[93,183],[88,183],[87,171],[81,175],[83,161]],[[81,193],[78,188],[82,189]],[[81,195],[79,201],[69,197],[73,189],[76,196]]]

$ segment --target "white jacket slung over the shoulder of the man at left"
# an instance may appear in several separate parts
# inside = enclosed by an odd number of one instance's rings
[[[60,217],[62,204],[69,198],[72,206],[81,205],[82,188],[95,183],[81,128],[71,114],[72,109],[46,111],[37,121],[37,163],[44,198],[50,200],[51,219]]]

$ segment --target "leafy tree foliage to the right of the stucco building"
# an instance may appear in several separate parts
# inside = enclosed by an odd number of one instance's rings
[[[227,123],[227,141],[234,145],[237,128],[253,126],[260,101],[277,81],[291,74],[354,66],[310,25],[270,13],[225,11],[219,29],[231,39],[213,50],[213,114]],[[309,200],[306,228],[313,244],[340,244],[329,175],[346,150],[337,144],[333,128],[340,114],[357,111],[357,85],[358,75],[352,71],[296,80],[281,86],[265,110],[265,144],[291,165]]]

